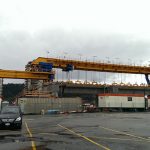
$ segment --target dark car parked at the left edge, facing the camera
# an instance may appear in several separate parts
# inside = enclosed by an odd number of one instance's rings
[[[22,113],[19,106],[6,106],[2,109],[0,127],[22,128]]]

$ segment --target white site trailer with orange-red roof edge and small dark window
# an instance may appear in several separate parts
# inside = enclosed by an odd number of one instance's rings
[[[143,94],[105,93],[98,95],[98,107],[145,109],[150,107],[150,99],[145,99]]]

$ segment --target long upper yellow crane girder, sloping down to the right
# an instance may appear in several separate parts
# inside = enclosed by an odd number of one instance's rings
[[[85,70],[85,71],[100,71],[100,72],[113,72],[113,73],[130,73],[130,74],[144,74],[148,85],[150,80],[150,67],[145,66],[130,66],[121,64],[110,64],[101,62],[66,60],[58,58],[44,58],[38,57],[31,62],[31,65],[39,65],[41,62],[49,63],[53,68],[61,68],[64,71],[70,70]]]

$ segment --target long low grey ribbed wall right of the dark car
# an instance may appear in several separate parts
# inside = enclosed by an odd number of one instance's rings
[[[81,98],[19,98],[18,104],[24,114],[40,114],[42,110],[59,112],[81,111]]]

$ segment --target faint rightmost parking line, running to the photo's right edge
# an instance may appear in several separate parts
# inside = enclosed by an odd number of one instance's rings
[[[103,129],[105,129],[105,130],[109,130],[109,131],[112,131],[112,132],[120,133],[120,134],[123,134],[123,135],[127,135],[127,136],[130,136],[130,137],[134,137],[134,138],[138,138],[138,139],[141,139],[141,140],[150,142],[149,139],[143,138],[143,137],[141,137],[141,136],[136,136],[136,135],[134,135],[134,134],[129,134],[129,133],[121,132],[121,131],[114,130],[114,129],[111,129],[111,128],[106,128],[106,127],[103,127],[103,126],[99,126],[99,127],[100,127],[100,128],[103,128]]]

